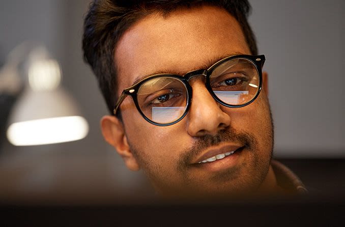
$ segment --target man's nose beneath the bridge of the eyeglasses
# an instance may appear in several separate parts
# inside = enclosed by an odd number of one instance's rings
[[[198,78],[190,81],[193,89],[192,102],[188,112],[187,131],[191,136],[216,135],[228,127],[231,117],[222,111],[220,104],[211,96],[205,82]]]

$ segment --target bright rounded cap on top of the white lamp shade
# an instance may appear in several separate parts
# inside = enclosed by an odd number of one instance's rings
[[[59,63],[52,59],[34,62],[28,69],[28,81],[34,91],[57,88],[61,81]]]

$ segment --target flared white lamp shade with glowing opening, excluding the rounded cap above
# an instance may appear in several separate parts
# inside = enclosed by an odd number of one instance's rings
[[[15,146],[63,143],[84,138],[89,131],[75,102],[62,88],[25,91],[12,110],[7,138]]]

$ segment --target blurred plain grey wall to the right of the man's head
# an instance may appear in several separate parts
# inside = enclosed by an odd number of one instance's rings
[[[343,157],[345,2],[250,3],[250,22],[267,57],[276,154]]]

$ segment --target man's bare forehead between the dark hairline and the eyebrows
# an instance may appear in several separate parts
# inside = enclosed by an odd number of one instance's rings
[[[203,6],[139,20],[120,39],[115,52],[118,94],[154,72],[188,72],[219,56],[250,54],[237,20],[224,9]]]

